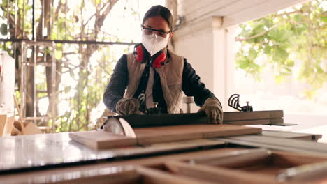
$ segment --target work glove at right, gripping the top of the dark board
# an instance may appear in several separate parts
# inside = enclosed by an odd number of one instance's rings
[[[222,124],[223,110],[217,98],[208,98],[198,112],[205,112],[212,124]]]

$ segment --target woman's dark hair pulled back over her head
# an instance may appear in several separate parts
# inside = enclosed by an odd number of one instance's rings
[[[173,15],[171,15],[170,10],[168,10],[168,8],[163,7],[161,5],[152,6],[149,10],[147,10],[147,13],[145,13],[143,17],[142,25],[148,17],[155,16],[163,17],[163,19],[166,20],[166,22],[168,23],[170,31],[173,31]]]

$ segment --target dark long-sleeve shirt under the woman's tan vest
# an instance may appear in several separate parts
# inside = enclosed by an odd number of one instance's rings
[[[145,91],[147,86],[147,77],[149,70],[145,68],[143,75],[140,79],[138,89],[134,94],[134,98],[140,95],[141,91]],[[129,82],[129,72],[127,68],[127,56],[124,54],[117,62],[113,74],[111,75],[109,84],[105,93],[103,94],[103,102],[112,112],[116,112],[117,102],[123,98],[126,86]],[[191,64],[184,59],[184,67],[182,73],[182,91],[187,96],[193,96],[194,102],[198,106],[202,106],[208,98],[215,97],[215,95],[205,88],[200,80],[200,77],[196,75],[196,71],[191,67]],[[153,101],[158,102],[158,106],[162,113],[167,113],[166,101],[163,98],[163,92],[161,89],[160,77],[154,70],[154,84],[153,84]]]

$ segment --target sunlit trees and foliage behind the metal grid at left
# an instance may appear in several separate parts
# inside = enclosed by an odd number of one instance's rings
[[[7,29],[7,13],[10,17],[15,17],[14,2],[10,1],[10,8],[7,10],[7,1],[0,1],[2,14],[0,15],[0,31],[1,38],[24,38],[31,39],[32,22],[31,22],[31,0],[17,0],[17,24],[11,19],[9,29]],[[41,10],[44,6],[42,2],[35,1],[36,4],[36,35],[38,39],[49,40],[96,40],[96,41],[112,41],[119,42],[118,36],[110,35],[101,30],[103,21],[110,10],[115,6],[117,0],[111,1],[54,1],[51,8],[45,8],[45,16],[51,13],[51,21],[45,19],[45,28],[48,27],[47,33],[43,34],[39,29],[41,25]],[[73,3],[74,6],[71,6]],[[24,6],[23,6],[24,4]],[[45,6],[47,7],[47,6]],[[23,10],[25,11],[23,13]],[[47,12],[48,11],[48,12]],[[50,11],[50,12],[49,12]],[[136,10],[125,7],[124,11],[128,15],[137,17]],[[49,14],[47,14],[49,13]],[[22,24],[24,22],[24,24]],[[17,36],[14,35],[14,27],[17,26]],[[22,29],[24,26],[24,36]],[[51,29],[49,29],[51,27]],[[8,31],[9,30],[9,31]],[[124,40],[131,41],[133,40]],[[56,132],[94,130],[95,126],[91,121],[92,109],[99,106],[102,101],[103,92],[106,89],[112,70],[117,63],[117,52],[127,53],[131,50],[131,46],[122,45],[95,45],[95,44],[67,44],[57,43],[55,59],[57,62],[57,116],[56,116]],[[1,45],[1,49],[8,51],[10,56],[14,57],[14,48],[17,49],[17,56],[21,54],[20,44],[7,42],[6,46]],[[47,55],[52,52],[48,48],[39,48],[37,54],[37,62],[46,62]],[[51,58],[51,57],[50,57]],[[30,59],[29,59],[30,60]],[[33,61],[30,61],[33,62]],[[19,63],[19,62],[17,62]],[[20,66],[17,66],[16,76],[17,82],[20,81]],[[48,75],[48,76],[47,76]],[[38,66],[36,81],[37,102],[48,99],[47,80],[49,74],[45,72],[45,67]],[[17,97],[20,97],[20,86],[17,85]],[[45,116],[51,116],[49,109],[46,107],[38,107],[38,116],[41,108],[45,110]],[[104,109],[103,109],[104,110]],[[97,118],[100,118],[97,117]],[[45,123],[45,124],[42,124]],[[38,125],[52,125],[52,121],[38,122]]]

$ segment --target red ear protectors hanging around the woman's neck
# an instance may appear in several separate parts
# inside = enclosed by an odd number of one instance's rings
[[[134,56],[136,60],[140,63],[145,63],[147,60],[150,60],[150,66],[152,68],[159,68],[166,64],[166,53],[163,50],[157,52],[152,57],[150,56],[149,52],[145,49],[142,43],[135,45],[134,47]]]

